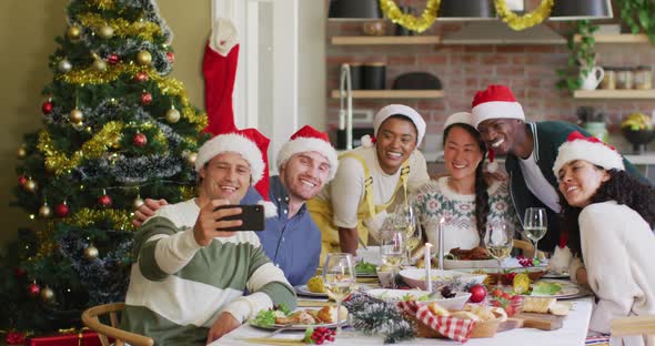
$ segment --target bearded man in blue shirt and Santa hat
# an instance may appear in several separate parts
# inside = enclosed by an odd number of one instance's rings
[[[264,252],[289,282],[303,285],[314,275],[321,256],[321,231],[312,220],[305,202],[314,197],[334,177],[336,151],[328,134],[304,126],[284,143],[278,153],[279,175],[270,177],[269,197],[278,206],[276,215],[266,218],[266,228],[256,232]],[[241,204],[256,204],[261,195],[250,189]],[[164,200],[145,200],[135,212],[140,225]]]

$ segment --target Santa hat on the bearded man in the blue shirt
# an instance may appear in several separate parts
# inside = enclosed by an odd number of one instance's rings
[[[291,135],[289,142],[282,145],[278,153],[278,169],[280,169],[291,156],[304,153],[318,152],[328,159],[330,163],[330,174],[328,181],[331,181],[336,174],[339,157],[336,151],[330,144],[328,133],[321,132],[310,125],[305,125]]]

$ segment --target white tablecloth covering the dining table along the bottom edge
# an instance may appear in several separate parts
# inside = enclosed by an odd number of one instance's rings
[[[564,320],[564,326],[557,330],[538,330],[532,328],[520,328],[497,333],[493,338],[474,338],[468,339],[465,345],[481,346],[577,346],[584,345],[592,316],[592,299],[590,297],[580,298],[575,302],[568,317]],[[365,336],[352,330],[344,330],[345,335],[337,337],[334,343],[324,345],[382,345],[382,337]],[[265,337],[271,332],[258,329],[251,325],[244,324],[240,328],[223,336],[210,345],[250,345],[242,340],[246,337]],[[302,338],[302,332],[283,332],[275,335],[280,338]],[[416,338],[401,343],[401,345],[462,345],[458,342],[446,339],[427,339]]]

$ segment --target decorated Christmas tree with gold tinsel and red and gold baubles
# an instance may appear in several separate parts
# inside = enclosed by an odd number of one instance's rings
[[[167,77],[172,34],[154,1],[72,0],[67,17],[42,129],[18,151],[14,204],[34,227],[0,268],[4,330],[71,327],[85,307],[122,302],[140,196],[193,195],[206,115]]]

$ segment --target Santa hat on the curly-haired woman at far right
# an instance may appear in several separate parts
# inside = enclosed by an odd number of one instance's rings
[[[553,164],[555,176],[558,175],[560,170],[565,163],[573,160],[588,161],[605,170],[625,170],[623,157],[614,146],[603,143],[595,136],[584,136],[578,131],[571,132],[566,142],[560,145],[557,159]]]

